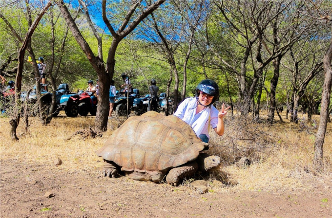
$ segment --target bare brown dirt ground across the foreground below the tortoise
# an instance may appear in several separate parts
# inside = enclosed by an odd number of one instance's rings
[[[315,178],[309,189],[240,190],[204,194],[189,185],[104,178],[100,172],[52,164],[1,160],[3,218],[102,217],[332,217],[332,181]],[[45,193],[53,197],[45,197]]]

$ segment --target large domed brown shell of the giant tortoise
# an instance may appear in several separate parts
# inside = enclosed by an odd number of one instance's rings
[[[122,171],[156,174],[195,160],[203,148],[186,122],[148,111],[129,117],[96,154]]]

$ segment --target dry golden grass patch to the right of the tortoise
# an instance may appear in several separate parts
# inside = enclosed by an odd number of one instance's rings
[[[224,136],[211,136],[212,153],[224,160],[224,170],[228,179],[238,182],[236,188],[247,190],[270,190],[309,188],[311,180],[323,182],[332,178],[332,124],[328,123],[323,149],[323,167],[317,169],[313,162],[313,145],[316,128],[306,122],[303,115],[302,124],[296,125],[286,120],[285,123],[267,124],[235,119],[225,121]],[[264,116],[264,114],[263,114]],[[262,117],[262,116],[261,116]],[[278,117],[275,117],[279,120]],[[319,116],[314,116],[319,122]],[[305,128],[300,127],[305,126]],[[244,168],[234,162],[241,157],[249,157],[253,163]],[[225,176],[224,176],[225,177]]]

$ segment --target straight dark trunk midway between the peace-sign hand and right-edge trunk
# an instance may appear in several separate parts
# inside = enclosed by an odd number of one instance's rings
[[[273,60],[273,77],[270,82],[270,109],[269,109],[269,115],[268,115],[268,122],[270,125],[272,125],[274,120],[274,110],[276,107],[275,103],[275,90],[278,85],[279,80],[279,71],[280,71],[280,60],[281,55],[279,55],[277,58]]]

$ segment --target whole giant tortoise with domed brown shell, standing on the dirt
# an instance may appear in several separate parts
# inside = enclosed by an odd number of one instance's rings
[[[201,153],[207,146],[177,116],[148,111],[129,117],[96,151],[104,159],[103,174],[116,177],[121,171],[130,179],[178,185],[197,170],[219,168],[220,157]]]

